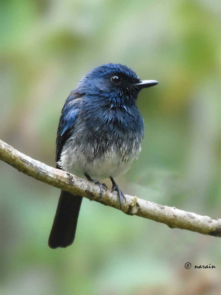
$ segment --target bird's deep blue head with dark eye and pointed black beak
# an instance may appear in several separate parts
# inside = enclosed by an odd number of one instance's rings
[[[141,89],[156,84],[158,82],[154,80],[140,80],[126,65],[108,63],[87,73],[79,82],[77,91],[111,100],[136,101]]]

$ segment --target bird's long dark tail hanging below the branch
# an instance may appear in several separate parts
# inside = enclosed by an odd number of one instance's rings
[[[54,222],[48,239],[50,248],[70,246],[75,238],[82,197],[61,191]]]

